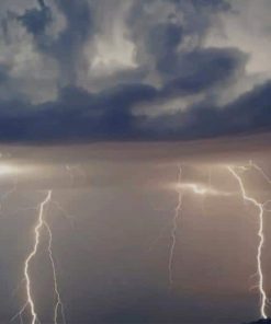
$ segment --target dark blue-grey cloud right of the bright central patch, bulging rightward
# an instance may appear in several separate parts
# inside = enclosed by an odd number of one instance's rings
[[[191,90],[194,84],[190,85],[191,80],[185,82],[184,79],[193,79],[194,82],[194,76],[200,74],[199,84],[195,84],[195,88],[203,88],[203,74],[211,73],[211,76],[214,76],[215,73],[211,68],[213,61],[215,63],[214,69],[222,63],[219,76],[223,79],[233,72],[234,66],[238,65],[238,60],[241,59],[237,49],[219,50],[201,47],[202,39],[213,25],[214,14],[230,11],[227,1],[165,1],[163,3],[174,4],[174,11],[171,11],[171,13],[169,11],[162,22],[160,22],[161,13],[159,11],[156,12],[153,9],[151,13],[151,10],[146,9],[147,4],[150,5],[155,2],[155,0],[135,1],[127,24],[131,26],[131,37],[137,44],[138,57],[145,57],[146,53],[150,55],[151,62],[148,62],[148,65],[155,65],[156,71],[160,73],[163,82],[171,80],[177,88],[179,83],[180,88],[184,86]],[[182,46],[184,49],[181,49]],[[226,70],[227,66],[229,66],[228,71]],[[225,78],[223,72],[225,72]],[[173,81],[176,78],[177,80]],[[205,76],[205,79],[207,79],[207,76]],[[206,81],[210,83],[211,80]]]

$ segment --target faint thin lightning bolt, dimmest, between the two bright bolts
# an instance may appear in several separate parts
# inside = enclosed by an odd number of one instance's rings
[[[181,177],[182,177],[182,167],[179,166],[178,172],[178,184],[181,184]],[[182,207],[182,192],[180,188],[177,188],[178,194],[178,204],[174,208],[173,218],[172,218],[172,227],[171,227],[171,245],[169,251],[169,263],[168,263],[168,271],[169,271],[169,288],[171,289],[173,285],[173,257],[174,257],[174,248],[176,248],[176,232],[178,229],[178,219],[180,217],[181,207]]]

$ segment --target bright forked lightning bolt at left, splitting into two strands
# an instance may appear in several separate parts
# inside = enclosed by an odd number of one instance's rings
[[[53,257],[53,234],[52,234],[52,230],[49,228],[49,224],[47,223],[47,221],[45,220],[45,211],[46,211],[46,207],[49,206],[49,204],[53,201],[52,200],[52,195],[53,192],[48,190],[46,194],[45,199],[39,204],[38,207],[38,217],[34,227],[34,243],[33,243],[33,248],[30,252],[30,254],[27,255],[25,262],[24,262],[24,281],[25,281],[25,290],[26,290],[26,302],[25,304],[22,306],[22,309],[20,310],[20,312],[12,317],[11,321],[13,321],[16,317],[20,317],[20,322],[23,323],[22,320],[22,315],[24,313],[24,311],[26,310],[27,306],[30,306],[30,312],[31,312],[31,324],[36,324],[36,323],[41,323],[37,316],[37,312],[36,312],[36,308],[35,308],[35,302],[33,299],[33,294],[32,294],[32,281],[31,281],[31,275],[30,275],[30,266],[32,261],[35,258],[36,253],[38,251],[38,246],[39,246],[39,239],[42,235],[42,231],[43,229],[45,229],[47,231],[48,234],[48,243],[47,243],[47,252],[48,252],[48,257],[50,261],[50,266],[52,266],[52,270],[53,270],[53,280],[54,280],[54,292],[55,292],[55,297],[56,297],[56,304],[54,308],[54,324],[57,324],[57,320],[58,320],[58,313],[60,311],[61,314],[61,320],[64,323],[66,323],[65,320],[65,314],[64,314],[64,304],[60,298],[60,293],[59,293],[59,289],[58,289],[58,282],[57,282],[57,273],[56,273],[56,266],[55,266],[55,261]]]

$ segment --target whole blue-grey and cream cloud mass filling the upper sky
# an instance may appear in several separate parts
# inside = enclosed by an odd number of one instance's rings
[[[0,18],[2,142],[271,130],[268,73],[247,69],[255,57],[244,46],[223,43],[250,2],[11,2]]]

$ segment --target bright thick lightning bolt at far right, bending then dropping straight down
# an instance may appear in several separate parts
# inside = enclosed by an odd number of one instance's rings
[[[258,288],[260,293],[260,314],[262,319],[268,319],[266,309],[268,304],[268,298],[264,290],[264,282],[263,282],[263,273],[262,273],[262,248],[264,245],[264,233],[263,233],[263,204],[260,204],[255,198],[249,197],[246,193],[245,185],[242,183],[241,177],[238,173],[234,170],[233,166],[227,166],[228,171],[233,174],[233,176],[237,180],[241,196],[244,201],[248,201],[252,204],[258,210],[258,218],[259,218],[259,229],[258,229],[258,236],[259,236],[259,244],[257,250],[257,275],[259,278]]]

